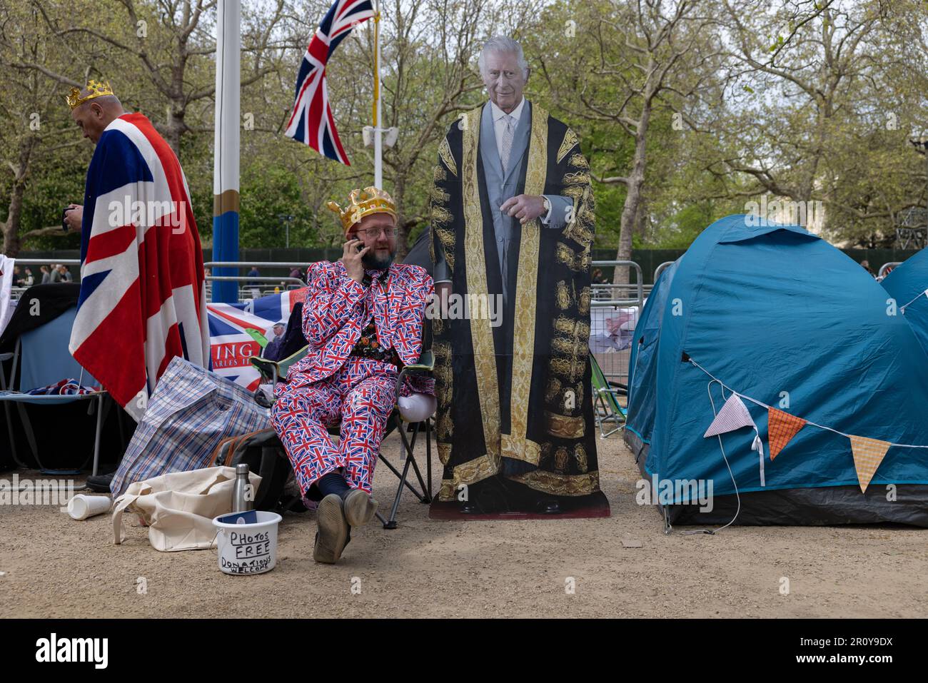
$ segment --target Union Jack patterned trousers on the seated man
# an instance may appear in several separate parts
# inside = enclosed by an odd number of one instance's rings
[[[380,442],[396,403],[396,367],[351,356],[325,380],[306,382],[302,376],[297,372],[277,384],[271,422],[303,495],[312,483],[339,468],[349,486],[369,494]],[[327,427],[339,420],[335,445]]]

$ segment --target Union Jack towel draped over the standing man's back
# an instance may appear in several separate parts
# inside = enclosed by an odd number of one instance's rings
[[[136,421],[174,356],[209,367],[200,234],[180,162],[142,114],[97,142],[71,355]]]

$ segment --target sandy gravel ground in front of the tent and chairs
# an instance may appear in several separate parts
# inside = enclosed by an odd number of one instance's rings
[[[396,453],[397,439],[386,442],[387,453]],[[619,435],[599,444],[609,519],[432,522],[427,506],[406,495],[399,528],[355,531],[335,566],[312,560],[315,514],[288,515],[277,568],[256,576],[220,573],[214,551],[157,552],[135,520],[115,546],[108,515],[74,522],[57,507],[3,506],[0,604],[14,617],[928,614],[928,530],[664,535],[655,509],[635,502],[638,473]],[[382,505],[394,482],[381,466],[374,493]]]

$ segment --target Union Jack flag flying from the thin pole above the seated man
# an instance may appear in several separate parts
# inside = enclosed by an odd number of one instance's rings
[[[293,112],[284,135],[350,166],[329,107],[326,64],[335,48],[357,24],[374,16],[370,0],[336,0],[306,48],[296,78]]]

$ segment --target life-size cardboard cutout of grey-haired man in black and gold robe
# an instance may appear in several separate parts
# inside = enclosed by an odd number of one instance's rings
[[[432,187],[439,498],[465,513],[557,514],[601,496],[589,164],[574,132],[522,97],[529,70],[517,42],[492,38],[479,65],[490,101],[451,126]],[[501,295],[502,323],[453,315],[449,292]]]

